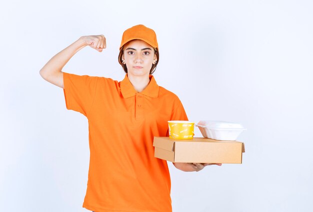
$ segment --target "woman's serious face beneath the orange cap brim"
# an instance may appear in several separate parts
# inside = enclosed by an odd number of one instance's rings
[[[133,40],[126,44],[122,60],[126,63],[128,76],[148,77],[156,55],[153,47],[144,41]]]

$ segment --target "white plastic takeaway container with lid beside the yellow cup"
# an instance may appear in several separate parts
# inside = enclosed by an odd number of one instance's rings
[[[197,126],[205,138],[222,141],[234,141],[245,128],[241,124],[226,121],[199,121]]]

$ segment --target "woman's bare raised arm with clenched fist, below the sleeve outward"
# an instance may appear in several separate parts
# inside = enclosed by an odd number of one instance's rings
[[[106,47],[103,35],[98,36],[82,36],[77,41],[54,55],[41,69],[40,76],[60,88],[64,88],[62,69],[69,59],[85,46],[102,52]]]

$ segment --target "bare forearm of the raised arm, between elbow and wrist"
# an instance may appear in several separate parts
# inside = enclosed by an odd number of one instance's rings
[[[40,70],[41,77],[43,79],[47,79],[53,74],[61,73],[63,67],[66,65],[69,59],[85,46],[87,45],[80,37],[70,46],[66,47],[61,52],[54,55]]]

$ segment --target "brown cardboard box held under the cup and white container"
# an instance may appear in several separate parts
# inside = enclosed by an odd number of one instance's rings
[[[209,138],[154,137],[154,157],[171,162],[242,163],[244,143]]]

